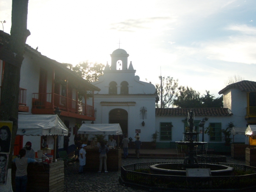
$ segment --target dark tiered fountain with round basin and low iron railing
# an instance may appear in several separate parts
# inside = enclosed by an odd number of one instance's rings
[[[197,142],[193,139],[199,134],[193,130],[193,116],[193,111],[190,111],[189,130],[184,133],[186,140],[176,142],[177,145],[186,145],[189,148],[189,155],[184,162],[147,162],[124,165],[121,167],[120,183],[142,188],[143,190],[162,192],[255,192],[256,167],[220,162],[199,163],[197,161],[195,146],[206,143]],[[200,171],[199,168],[204,169],[201,170],[202,172],[207,169],[209,176],[204,174],[196,175],[199,173],[196,173],[196,171]],[[186,175],[186,169],[188,175]],[[237,176],[239,172],[240,174]],[[196,174],[193,175],[193,173]]]

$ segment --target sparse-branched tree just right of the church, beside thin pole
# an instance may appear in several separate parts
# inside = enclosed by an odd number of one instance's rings
[[[158,97],[161,100],[161,90],[162,90],[162,108],[170,108],[173,107],[173,101],[176,98],[176,94],[178,93],[178,79],[174,80],[173,77],[167,76],[162,77],[159,76],[161,81],[162,78],[162,89],[161,84],[155,84],[156,92]],[[156,108],[159,108],[158,103],[156,103]]]

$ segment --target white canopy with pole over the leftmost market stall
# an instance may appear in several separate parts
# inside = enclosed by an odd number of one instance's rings
[[[55,162],[57,136],[68,135],[68,129],[57,115],[19,114],[17,135],[52,135],[54,138],[53,162]]]

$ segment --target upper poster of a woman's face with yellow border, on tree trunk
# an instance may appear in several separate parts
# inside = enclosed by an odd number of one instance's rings
[[[10,154],[12,121],[0,121],[0,153]]]

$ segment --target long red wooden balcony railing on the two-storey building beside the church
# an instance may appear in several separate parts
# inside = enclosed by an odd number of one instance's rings
[[[32,108],[49,109],[59,107],[61,111],[94,117],[93,106],[58,94],[54,94],[52,103],[52,93],[33,93],[32,102]]]

